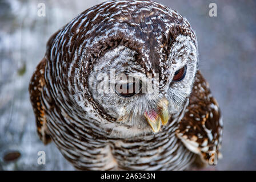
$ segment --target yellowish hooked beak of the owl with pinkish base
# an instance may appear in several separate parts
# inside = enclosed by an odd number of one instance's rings
[[[158,111],[151,110],[149,112],[145,112],[144,115],[151,129],[154,133],[157,133],[160,130],[161,122],[162,125],[166,125],[169,121],[167,99],[162,98],[162,100],[158,102]]]

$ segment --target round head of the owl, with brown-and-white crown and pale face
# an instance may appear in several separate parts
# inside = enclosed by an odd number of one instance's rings
[[[66,41],[74,53],[74,100],[100,115],[102,125],[156,133],[185,108],[197,39],[177,11],[152,1],[107,1],[71,21],[63,35],[74,40]]]

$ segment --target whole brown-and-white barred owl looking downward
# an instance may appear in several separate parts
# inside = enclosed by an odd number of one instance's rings
[[[216,164],[222,118],[190,23],[153,1],[106,1],[57,31],[29,85],[37,133],[77,169]]]

